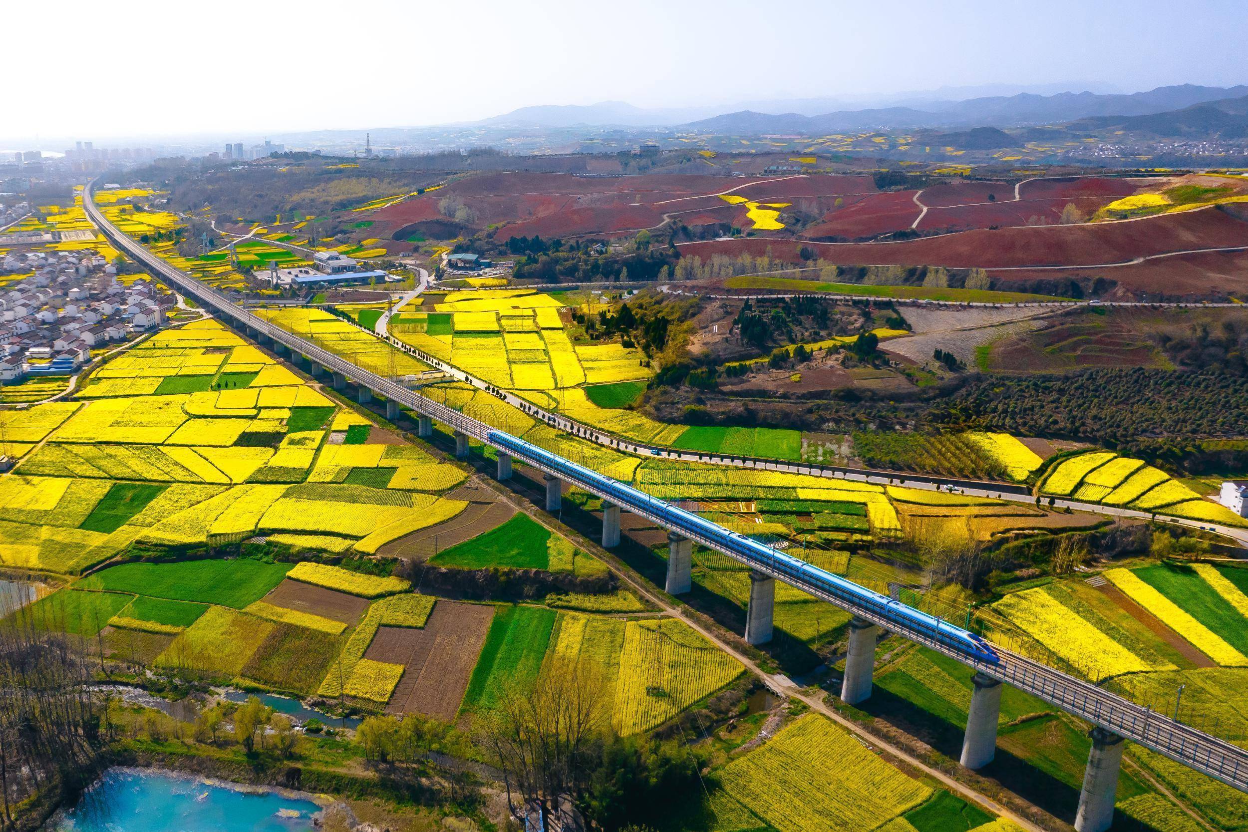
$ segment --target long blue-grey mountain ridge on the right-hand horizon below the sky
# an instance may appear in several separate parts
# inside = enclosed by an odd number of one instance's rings
[[[804,116],[796,112],[770,115],[744,110],[694,121],[685,127],[698,132],[719,135],[821,135],[857,130],[1016,127],[1092,119],[1147,117],[1209,102],[1241,99],[1246,95],[1248,95],[1248,86],[1207,87],[1191,84],[1157,87],[1148,92],[1129,95],[1094,92],[1035,95],[1022,92],[1012,96],[988,96],[946,102],[922,110],[881,107],[840,110],[817,116]],[[1214,110],[1223,112],[1217,107]]]

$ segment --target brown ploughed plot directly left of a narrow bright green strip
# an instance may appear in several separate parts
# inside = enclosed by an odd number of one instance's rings
[[[386,710],[456,718],[494,607],[439,600],[424,627],[381,627],[364,659],[403,665]]]

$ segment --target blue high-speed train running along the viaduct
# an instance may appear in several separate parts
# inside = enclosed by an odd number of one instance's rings
[[[973,656],[980,661],[990,664],[1000,661],[992,645],[987,641],[973,632],[941,621],[934,615],[927,615],[901,601],[895,601],[887,595],[859,586],[840,575],[834,575],[824,569],[812,566],[799,558],[786,555],[743,534],[729,531],[693,511],[686,511],[670,503],[653,498],[631,485],[603,476],[584,465],[578,465],[502,430],[492,430],[489,440],[513,452],[522,459],[528,458],[552,470],[567,474],[573,481],[580,480],[593,484],[608,499],[625,509],[643,510],[651,516],[658,516],[673,530],[684,533],[694,540],[715,543],[779,578],[792,579],[799,588],[816,588],[830,597],[842,601],[851,609],[865,609],[884,621],[894,621],[912,631],[917,630],[921,635]]]

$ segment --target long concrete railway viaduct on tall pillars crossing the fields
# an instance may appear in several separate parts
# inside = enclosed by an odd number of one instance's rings
[[[706,535],[673,524],[670,509],[674,506],[666,501],[609,480],[550,452],[518,452],[517,448],[523,449],[527,443],[434,402],[419,390],[408,389],[389,378],[357,367],[313,342],[236,306],[217,289],[173,268],[117,231],[95,206],[91,198],[94,185],[95,182],[89,183],[84,191],[84,208],[119,249],[129,253],[154,276],[196,298],[258,343],[270,346],[273,352],[287,357],[296,365],[302,362],[312,375],[329,374],[334,389],[346,392],[349,382],[359,402],[369,402],[374,395],[381,397],[386,402],[386,413],[391,419],[399,417],[403,410],[411,412],[417,422],[417,433],[422,437],[432,435],[434,422],[446,425],[454,437],[454,450],[459,457],[468,455],[470,440],[494,448],[498,453],[499,479],[505,480],[512,476],[517,460],[528,465],[543,476],[547,510],[558,510],[563,499],[563,483],[602,498],[604,548],[619,545],[620,513],[625,510],[666,528],[669,530],[665,581],[668,593],[680,595],[690,590],[691,554],[695,544],[720,551],[749,566],[750,596],[745,626],[748,642],[760,645],[771,639],[776,580],[850,612],[854,617],[850,624],[849,652],[841,686],[841,697],[845,702],[862,702],[871,695],[876,644],[881,634],[889,631],[947,655],[966,665],[973,674],[973,694],[961,755],[962,765],[968,768],[980,768],[993,758],[1002,685],[1013,685],[1091,723],[1092,750],[1075,821],[1078,832],[1103,832],[1109,828],[1126,741],[1137,742],[1248,792],[1248,750],[1008,650],[995,647],[995,660],[968,652],[958,647],[956,640],[948,637],[950,634],[962,632],[957,627],[946,624],[943,631],[940,626],[934,631],[930,626],[919,626],[911,616],[899,614],[900,604],[871,602],[869,596],[875,594],[864,588],[859,588],[861,595],[846,593],[842,585],[847,581],[812,566],[801,571],[786,569],[779,556],[759,554],[759,549],[766,549],[765,546],[753,541],[753,545],[734,543],[726,530],[720,529],[724,534]],[[708,525],[714,526],[709,521]],[[736,538],[746,540],[740,535]],[[774,555],[780,554],[770,551]]]

